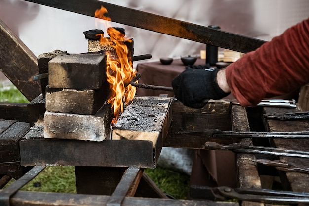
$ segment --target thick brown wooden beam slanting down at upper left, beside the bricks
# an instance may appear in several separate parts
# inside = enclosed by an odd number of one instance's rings
[[[32,77],[39,74],[37,57],[0,20],[0,70],[29,100],[42,93],[39,81]]]

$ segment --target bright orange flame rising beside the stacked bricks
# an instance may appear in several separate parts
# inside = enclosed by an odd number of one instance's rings
[[[102,6],[101,9],[96,10],[95,15],[100,15],[99,18],[101,18],[104,17],[105,13],[107,13],[107,10]],[[113,50],[115,49],[115,51],[106,51],[106,75],[111,91],[111,96],[107,102],[112,104],[114,120],[117,121],[125,104],[129,104],[135,96],[136,87],[128,83],[136,71],[133,69],[131,58],[128,58],[129,51],[124,43],[132,42],[132,39],[124,37],[121,32],[112,27],[109,28],[109,34],[110,38],[104,38],[101,35],[100,44],[109,45]],[[127,84],[128,86],[126,86]]]

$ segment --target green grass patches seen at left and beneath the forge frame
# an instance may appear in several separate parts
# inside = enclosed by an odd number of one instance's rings
[[[29,102],[14,86],[0,82],[0,102]],[[186,199],[189,176],[160,167],[145,173],[166,194]],[[14,180],[9,182],[12,183]],[[9,185],[8,184],[8,185]],[[39,192],[76,193],[74,166],[48,166],[21,190]]]

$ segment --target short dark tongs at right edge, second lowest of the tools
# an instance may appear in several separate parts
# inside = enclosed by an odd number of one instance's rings
[[[283,159],[280,160],[253,159],[252,161],[266,166],[273,166],[277,170],[281,171],[309,173],[309,167],[305,167],[303,165],[297,165],[293,162],[289,162]]]

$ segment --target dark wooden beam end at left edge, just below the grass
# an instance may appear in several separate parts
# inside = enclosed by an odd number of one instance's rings
[[[0,102],[0,118],[29,122],[27,104]]]

